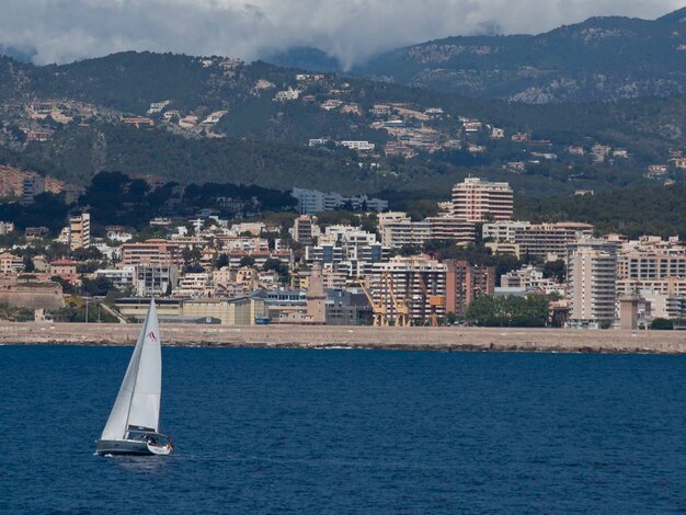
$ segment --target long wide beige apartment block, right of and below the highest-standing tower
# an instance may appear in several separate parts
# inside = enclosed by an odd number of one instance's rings
[[[523,255],[536,255],[554,261],[565,259],[570,244],[593,237],[593,226],[571,221],[531,224],[503,220],[484,224],[482,234],[484,239],[517,244]]]

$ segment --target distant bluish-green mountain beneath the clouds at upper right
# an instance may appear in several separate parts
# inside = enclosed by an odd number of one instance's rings
[[[448,37],[389,52],[354,72],[527,103],[686,92],[686,8],[654,21],[592,18],[539,35]]]

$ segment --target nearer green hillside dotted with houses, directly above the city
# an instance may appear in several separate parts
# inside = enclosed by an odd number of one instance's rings
[[[108,170],[445,195],[479,174],[545,195],[650,183],[650,164],[666,167],[686,148],[684,94],[530,105],[133,52],[43,67],[0,56],[0,163],[82,184]],[[375,151],[342,145],[351,140]],[[661,181],[686,179],[668,167]]]

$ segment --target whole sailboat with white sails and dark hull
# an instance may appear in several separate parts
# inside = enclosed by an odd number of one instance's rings
[[[98,440],[99,455],[168,455],[171,439],[159,433],[162,352],[155,299]]]

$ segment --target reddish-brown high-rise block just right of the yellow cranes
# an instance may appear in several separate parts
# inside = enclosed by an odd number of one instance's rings
[[[495,267],[471,265],[464,260],[446,260],[446,311],[458,317],[467,313],[472,300],[495,291]]]

